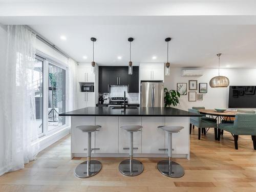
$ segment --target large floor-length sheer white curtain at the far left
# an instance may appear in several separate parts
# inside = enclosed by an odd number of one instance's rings
[[[33,68],[35,34],[27,26],[8,26],[7,60],[1,63],[4,171],[24,168],[38,153]],[[2,134],[2,133],[1,133]]]

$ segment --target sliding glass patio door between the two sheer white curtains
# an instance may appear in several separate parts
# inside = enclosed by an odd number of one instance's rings
[[[36,56],[33,73],[36,129],[39,137],[66,126],[66,69],[56,62]]]

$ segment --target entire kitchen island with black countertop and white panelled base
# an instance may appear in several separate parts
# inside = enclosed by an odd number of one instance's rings
[[[142,125],[134,133],[135,157],[167,157],[167,134],[158,129],[161,125],[184,126],[173,134],[173,157],[189,159],[189,117],[201,116],[175,108],[88,107],[62,113],[71,116],[71,158],[86,157],[87,135],[76,129],[78,125],[101,125],[92,133],[92,157],[127,157],[129,135],[122,125]]]

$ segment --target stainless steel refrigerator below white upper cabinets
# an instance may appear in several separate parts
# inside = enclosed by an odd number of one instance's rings
[[[141,82],[141,106],[164,107],[163,82]]]

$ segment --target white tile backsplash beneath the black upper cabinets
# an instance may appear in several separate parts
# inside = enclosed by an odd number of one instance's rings
[[[139,103],[139,93],[127,93],[127,86],[111,86],[110,97],[123,97],[123,92],[129,103]]]

